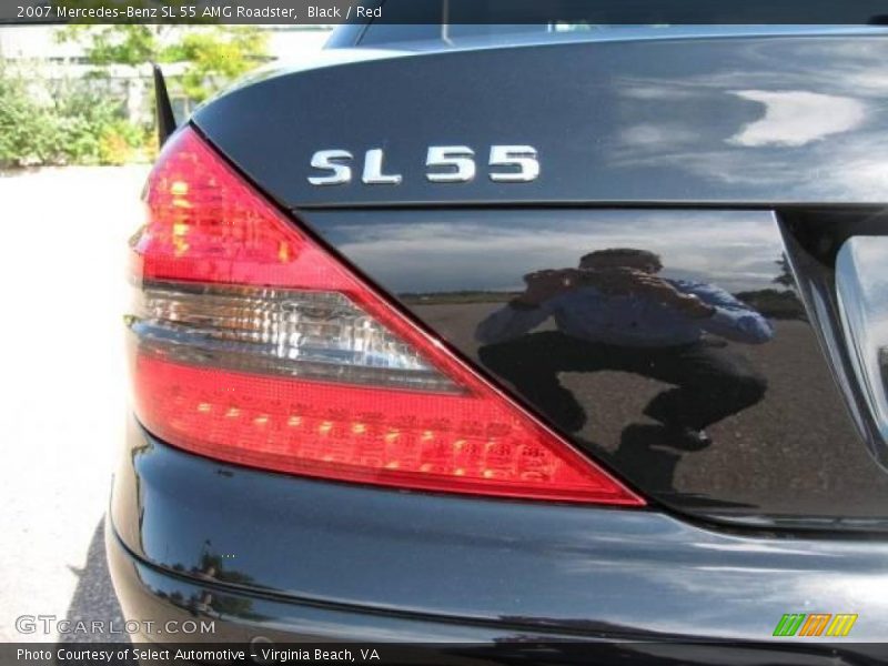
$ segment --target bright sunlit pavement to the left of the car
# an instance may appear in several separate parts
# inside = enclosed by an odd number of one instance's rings
[[[0,640],[57,638],[17,633],[20,615],[120,618],[101,522],[122,443],[124,248],[144,173],[0,175]]]

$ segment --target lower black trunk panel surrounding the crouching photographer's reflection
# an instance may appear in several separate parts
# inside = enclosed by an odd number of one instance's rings
[[[587,421],[582,430],[565,434],[643,492],[684,512],[759,524],[816,518],[813,524],[823,526],[827,517],[835,521],[834,527],[888,525],[888,473],[867,454],[865,424],[871,420],[855,402],[855,380],[842,374],[847,392],[834,380],[786,263],[784,234],[773,213],[461,209],[305,211],[303,218],[482,367],[478,325],[508,307],[508,299],[523,291],[525,274],[576,266],[581,255],[594,250],[630,246],[656,252],[663,276],[720,286],[770,320],[775,334],[764,344],[710,336],[713,344],[724,345],[718,354],[740,357],[744,367],[760,377],[763,395],[707,427],[709,447],[687,451],[673,445],[656,421],[643,414],[646,404],[670,390],[668,383],[643,372],[614,372],[618,367],[592,372],[568,365],[562,369],[562,384]],[[809,255],[799,249],[793,256],[800,262]],[[827,265],[814,258],[809,262]],[[810,274],[806,268],[806,285]],[[824,292],[831,290],[823,279],[819,284]],[[834,311],[833,329],[837,316]],[[816,319],[817,330],[826,330],[827,322]],[[542,329],[553,329],[551,321]],[[558,354],[557,343],[554,340],[541,353]],[[829,349],[841,350],[842,344],[836,340]],[[532,362],[517,355],[509,367],[487,370],[500,371],[500,379],[508,383],[513,367]],[[836,359],[834,367],[841,370],[842,360]],[[722,381],[730,377],[709,385],[716,391]],[[547,396],[515,389],[547,414]],[[707,392],[699,400],[716,396]],[[848,417],[849,407],[858,428]],[[555,425],[562,425],[557,418]]]

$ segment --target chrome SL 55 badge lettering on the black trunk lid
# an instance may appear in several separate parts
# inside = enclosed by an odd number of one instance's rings
[[[342,149],[319,150],[312,155],[313,185],[344,185],[352,182],[354,155]],[[384,168],[385,153],[372,148],[364,153],[361,182],[365,185],[397,185],[404,176]],[[467,183],[477,172],[475,151],[467,145],[430,145],[425,179],[433,183]],[[487,178],[497,183],[528,183],[539,176],[539,160],[533,145],[492,145]]]

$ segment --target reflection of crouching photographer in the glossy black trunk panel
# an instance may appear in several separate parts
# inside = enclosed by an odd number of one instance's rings
[[[662,268],[653,252],[613,249],[583,256],[578,269],[525,275],[524,293],[478,325],[482,362],[569,431],[586,417],[559,372],[618,370],[667,382],[676,387],[645,413],[674,443],[706,445],[703,428],[758,402],[766,382],[705,334],[760,344],[774,331],[726,291],[659,278]],[[549,317],[557,332],[527,334]]]

